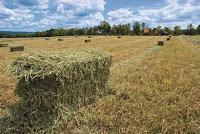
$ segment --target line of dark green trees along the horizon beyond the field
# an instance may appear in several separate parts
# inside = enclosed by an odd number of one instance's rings
[[[132,30],[130,23],[113,25],[112,27],[106,21],[101,21],[98,26],[90,28],[71,28],[71,29],[49,29],[46,31],[35,32],[30,34],[17,33],[8,34],[0,33],[0,38],[24,38],[24,37],[52,37],[52,36],[75,36],[75,35],[200,35],[200,25],[195,29],[192,24],[187,26],[187,29],[182,30],[180,26],[175,26],[174,29],[169,27],[156,28],[146,27],[145,22],[140,24],[135,22]]]

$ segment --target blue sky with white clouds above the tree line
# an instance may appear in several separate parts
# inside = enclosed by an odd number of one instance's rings
[[[200,25],[200,0],[0,0],[0,31],[82,28],[145,22],[187,28]]]

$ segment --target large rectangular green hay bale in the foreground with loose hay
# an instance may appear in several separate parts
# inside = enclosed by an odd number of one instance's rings
[[[70,109],[103,95],[111,60],[109,54],[97,50],[18,57],[8,69],[19,79],[15,93],[20,99],[0,118],[0,133],[52,133],[64,118],[70,118],[66,114]]]

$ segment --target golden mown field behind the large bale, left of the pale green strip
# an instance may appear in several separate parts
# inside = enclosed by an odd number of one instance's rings
[[[58,37],[52,37],[50,40],[45,40],[45,38],[31,38],[26,40],[14,39],[10,42],[4,42],[9,45],[24,45],[25,50],[11,53],[8,47],[0,48],[0,113],[17,100],[17,96],[13,94],[16,80],[6,74],[5,68],[12,59],[23,53],[71,48],[95,48],[111,53],[113,55],[113,61],[116,63],[133,55],[137,55],[149,47],[156,46],[157,40],[164,40],[165,38],[153,36],[122,36],[122,38],[118,39],[117,36],[95,36],[91,38],[91,43],[84,43],[87,37],[63,37],[64,41],[60,42],[58,42]]]

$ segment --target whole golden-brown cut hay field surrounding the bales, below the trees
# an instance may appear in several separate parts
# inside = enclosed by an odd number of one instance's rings
[[[183,37],[95,36],[0,39],[24,51],[0,48],[0,115],[18,98],[17,80],[6,73],[24,53],[95,48],[113,63],[106,95],[72,114],[59,133],[200,133],[200,45]],[[199,36],[198,36],[199,38]],[[157,46],[164,40],[164,46]]]

